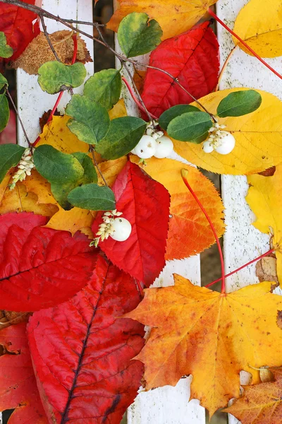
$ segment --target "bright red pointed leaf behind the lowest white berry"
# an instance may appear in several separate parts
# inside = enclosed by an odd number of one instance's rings
[[[123,271],[149,286],[164,268],[170,196],[135,163],[128,162],[112,187],[116,208],[132,225],[130,237],[99,243],[106,256]],[[102,223],[99,213],[92,225],[96,234]]]

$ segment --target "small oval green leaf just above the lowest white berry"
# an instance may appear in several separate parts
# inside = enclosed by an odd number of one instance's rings
[[[106,186],[85,184],[68,194],[68,201],[78,208],[90,211],[111,211],[116,208],[114,192]]]

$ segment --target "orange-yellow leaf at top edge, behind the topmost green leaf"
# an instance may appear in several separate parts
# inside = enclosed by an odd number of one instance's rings
[[[107,27],[116,31],[128,13],[147,13],[149,18],[156,19],[161,25],[164,32],[162,39],[166,40],[192,28],[214,3],[216,0],[157,0],[152,6],[150,0],[118,0],[118,8]]]

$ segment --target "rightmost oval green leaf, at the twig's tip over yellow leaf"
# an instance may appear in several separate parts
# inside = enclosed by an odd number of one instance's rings
[[[221,118],[241,117],[252,113],[262,104],[262,96],[255,90],[241,90],[230,93],[222,99],[217,107],[217,114]]]

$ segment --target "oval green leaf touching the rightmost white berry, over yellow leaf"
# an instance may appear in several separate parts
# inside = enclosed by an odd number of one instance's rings
[[[168,136],[179,141],[201,143],[207,139],[212,119],[206,112],[188,112],[174,118],[168,124]]]

